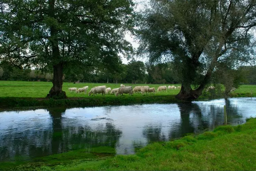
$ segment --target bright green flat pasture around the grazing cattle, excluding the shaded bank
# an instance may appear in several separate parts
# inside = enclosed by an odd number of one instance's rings
[[[89,97],[88,91],[87,95],[84,94],[84,92],[80,92],[79,94],[76,94],[75,92],[70,92],[68,90],[69,87],[77,87],[81,88],[84,86],[89,86],[89,90],[92,87],[99,86],[99,85],[106,85],[107,87],[118,88],[120,87],[120,84],[104,84],[104,83],[63,83],[63,91],[66,92],[66,95],[68,97]],[[141,85],[148,85],[149,87],[155,87],[156,89],[159,86],[162,85],[170,85],[170,84],[125,84],[125,86],[141,86]],[[175,86],[181,86],[180,84],[172,84]],[[0,81],[0,97],[35,97],[35,98],[44,98],[48,94],[52,87],[51,82],[26,82],[26,81]],[[179,89],[171,89],[162,92],[156,92],[156,94],[149,94],[149,96],[165,96],[165,95],[176,95],[179,93]],[[239,94],[251,94],[251,91],[253,92],[253,95],[256,95],[256,85],[242,85],[238,89],[234,91],[234,93]],[[114,97],[114,95],[106,95],[109,97]],[[127,94],[124,94],[124,96],[129,96]],[[136,93],[133,95],[134,97],[140,97],[142,94]],[[145,96],[145,95],[144,95]],[[147,95],[146,95],[147,96]],[[91,96],[92,97],[92,96]],[[101,95],[97,95],[96,98],[101,97]]]

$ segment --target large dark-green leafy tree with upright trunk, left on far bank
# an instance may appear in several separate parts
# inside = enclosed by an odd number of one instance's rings
[[[47,97],[66,98],[63,69],[130,55],[124,34],[133,29],[133,8],[132,0],[2,0],[0,60],[50,67],[53,86]]]

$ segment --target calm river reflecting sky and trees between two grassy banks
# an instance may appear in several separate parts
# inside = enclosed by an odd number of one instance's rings
[[[200,133],[227,120],[242,124],[256,116],[256,98],[230,98],[187,104],[142,104],[90,108],[49,108],[0,112],[0,161],[47,156],[97,146],[117,154],[186,133]]]

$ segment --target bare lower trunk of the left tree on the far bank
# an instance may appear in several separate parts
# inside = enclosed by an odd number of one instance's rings
[[[52,80],[52,88],[47,95],[48,98],[53,99],[65,99],[66,92],[62,91],[62,84],[63,84],[63,63],[58,63],[57,65],[53,66],[53,80]]]

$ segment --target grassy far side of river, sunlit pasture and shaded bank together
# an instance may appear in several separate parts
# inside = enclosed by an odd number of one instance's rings
[[[120,84],[102,84],[102,83],[63,83],[63,90],[66,91],[68,99],[53,100],[45,99],[50,88],[51,82],[25,82],[25,81],[0,81],[0,107],[27,107],[27,106],[96,106],[96,105],[126,105],[138,103],[170,103],[181,102],[175,99],[175,95],[179,93],[179,89],[172,89],[156,92],[155,94],[142,95],[136,93],[133,96],[124,94],[122,97],[115,97],[115,95],[106,95],[105,97],[97,95],[95,97],[87,94],[70,92],[69,87],[84,87],[89,86],[89,89],[94,86],[106,85],[111,89],[117,88]],[[144,84],[126,84],[126,86],[139,86]],[[160,84],[147,84],[156,89]],[[165,84],[168,86],[169,84]],[[175,86],[181,86],[176,84]],[[252,92],[252,94],[251,94]],[[209,97],[221,98],[221,95],[206,95],[199,98],[208,99]],[[256,85],[242,85],[235,92],[232,92],[231,97],[256,97]]]

